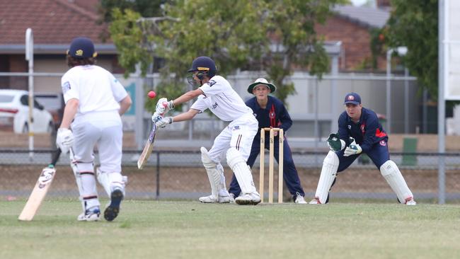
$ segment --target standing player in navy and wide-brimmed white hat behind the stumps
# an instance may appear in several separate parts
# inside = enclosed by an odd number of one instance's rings
[[[255,118],[259,122],[258,134],[255,134],[253,144],[251,147],[251,154],[248,158],[248,166],[251,168],[260,153],[260,129],[263,127],[279,127],[287,132],[287,130],[292,126],[292,120],[287,113],[286,108],[284,107],[281,100],[268,96],[269,93],[276,91],[276,87],[273,84],[268,83],[266,79],[257,79],[253,84],[248,86],[248,93],[253,93],[254,97],[246,101],[246,105],[250,107],[255,114]],[[265,132],[265,149],[268,149],[270,145],[270,132]],[[275,132],[277,134],[278,132]],[[275,150],[274,156],[277,162],[278,154],[280,151],[280,142],[278,141],[279,137],[275,136]],[[301,187],[299,175],[297,174],[296,166],[292,160],[291,149],[287,140],[284,139],[284,182],[291,192],[294,202],[299,204],[306,204],[304,200],[304,189]],[[238,197],[240,195],[241,189],[238,185],[238,181],[235,178],[235,175],[231,179],[229,192]],[[260,194],[262,195],[262,194]]]

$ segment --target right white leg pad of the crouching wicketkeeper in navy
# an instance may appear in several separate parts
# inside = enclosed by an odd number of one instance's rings
[[[393,192],[398,196],[399,202],[406,204],[408,200],[413,199],[413,194],[409,190],[406,180],[404,180],[401,171],[396,163],[389,160],[380,166],[380,173],[384,176],[386,182],[390,185]]]

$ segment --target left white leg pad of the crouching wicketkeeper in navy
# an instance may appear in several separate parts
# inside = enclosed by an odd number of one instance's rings
[[[329,151],[323,161],[323,168],[321,168],[321,175],[319,176],[318,187],[316,188],[315,197],[318,198],[321,204],[326,204],[330,186],[332,185],[338,169],[338,156],[334,151]]]

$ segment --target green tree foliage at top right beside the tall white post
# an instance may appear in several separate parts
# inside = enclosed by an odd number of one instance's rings
[[[438,1],[392,0],[391,18],[384,30],[389,47],[406,46],[403,62],[430,96],[437,99]]]

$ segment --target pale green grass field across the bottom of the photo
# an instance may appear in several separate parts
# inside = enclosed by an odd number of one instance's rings
[[[460,258],[459,205],[205,205],[127,200],[78,222],[76,200],[0,202],[0,258]]]

